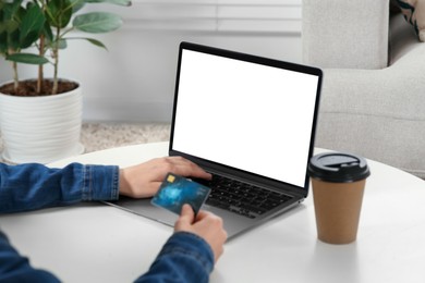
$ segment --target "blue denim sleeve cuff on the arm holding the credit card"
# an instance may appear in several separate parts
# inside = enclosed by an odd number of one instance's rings
[[[210,246],[195,234],[179,232],[168,239],[149,271],[135,282],[203,283],[209,281],[212,268]]]

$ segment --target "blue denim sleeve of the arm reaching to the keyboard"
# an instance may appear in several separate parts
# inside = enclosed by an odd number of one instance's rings
[[[71,163],[50,169],[36,163],[0,163],[0,213],[118,197],[119,168],[114,165]]]

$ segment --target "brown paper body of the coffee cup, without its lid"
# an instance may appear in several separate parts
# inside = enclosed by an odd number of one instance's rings
[[[329,244],[356,239],[366,180],[330,183],[312,179],[317,236]]]

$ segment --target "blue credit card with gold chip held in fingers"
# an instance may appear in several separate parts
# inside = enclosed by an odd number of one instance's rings
[[[197,214],[208,198],[209,192],[209,187],[169,173],[150,202],[177,214],[180,214],[184,204],[189,204]]]

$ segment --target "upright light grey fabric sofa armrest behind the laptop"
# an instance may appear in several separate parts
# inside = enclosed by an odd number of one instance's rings
[[[319,67],[388,65],[389,0],[303,0],[303,61]]]

